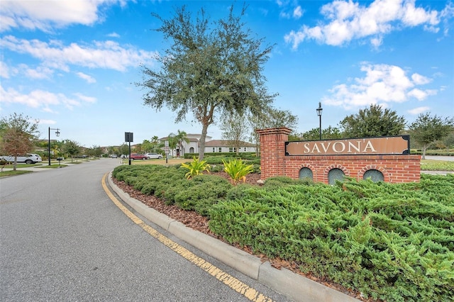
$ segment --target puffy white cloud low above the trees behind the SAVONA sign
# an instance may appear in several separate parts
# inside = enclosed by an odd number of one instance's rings
[[[329,90],[331,96],[324,97],[323,103],[351,109],[370,104],[402,103],[413,98],[423,101],[438,92],[416,87],[431,82],[431,79],[416,73],[407,77],[404,69],[398,66],[363,63],[360,70],[365,72],[365,77],[333,86]]]

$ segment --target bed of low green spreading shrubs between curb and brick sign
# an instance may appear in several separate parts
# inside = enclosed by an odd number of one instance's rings
[[[223,170],[222,162],[205,160]],[[365,298],[447,301],[454,291],[454,174],[335,186],[273,177],[255,186],[209,173],[187,179],[187,172],[122,165],[113,177],[208,217],[209,228],[231,244]]]

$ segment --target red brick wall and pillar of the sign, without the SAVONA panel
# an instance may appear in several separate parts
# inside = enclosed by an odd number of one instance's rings
[[[332,183],[333,172],[346,177],[364,179],[371,172],[386,182],[419,181],[420,155],[301,155],[286,156],[285,142],[292,130],[269,128],[257,130],[260,135],[262,180],[287,176],[301,178],[301,171],[309,172],[314,181]],[[372,174],[373,174],[372,173]],[[306,176],[307,174],[302,174]]]

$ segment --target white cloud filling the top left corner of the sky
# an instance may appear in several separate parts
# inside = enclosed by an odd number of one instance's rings
[[[100,21],[101,6],[120,3],[118,0],[47,0],[1,1],[0,32],[12,28],[50,31],[70,24],[92,25]]]

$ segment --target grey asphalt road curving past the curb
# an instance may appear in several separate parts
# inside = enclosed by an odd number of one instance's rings
[[[112,159],[0,179],[1,301],[250,301],[126,217]],[[288,301],[150,224],[274,301]]]

